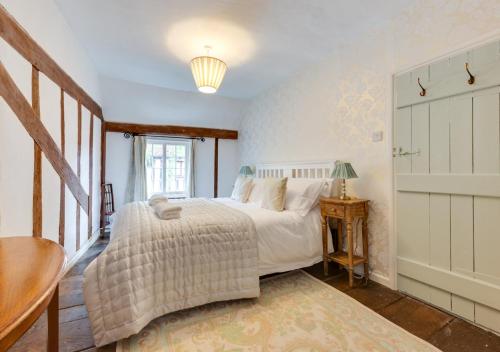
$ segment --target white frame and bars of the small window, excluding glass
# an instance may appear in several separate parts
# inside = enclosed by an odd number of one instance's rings
[[[173,199],[182,199],[182,198],[188,198],[191,196],[191,163],[192,163],[192,155],[191,155],[191,144],[192,140],[191,139],[183,139],[183,138],[168,138],[168,137],[146,137],[146,149],[150,144],[161,144],[162,145],[162,193],[167,194],[169,198]],[[186,148],[186,162],[184,163],[184,191],[183,192],[167,192],[166,191],[166,184],[167,184],[167,145],[183,145]],[[146,166],[147,167],[147,166]],[[148,180],[149,183],[149,180]],[[147,187],[147,193],[148,196],[156,193],[156,192],[150,192],[149,187]]]

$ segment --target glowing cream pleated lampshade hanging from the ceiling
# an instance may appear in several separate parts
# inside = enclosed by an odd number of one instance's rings
[[[224,79],[226,70],[224,61],[215,57],[199,56],[191,60],[191,72],[198,90],[202,93],[215,93]]]

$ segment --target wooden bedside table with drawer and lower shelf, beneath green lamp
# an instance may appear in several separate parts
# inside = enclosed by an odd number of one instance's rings
[[[321,198],[321,224],[323,228],[323,269],[328,275],[328,261],[333,261],[347,267],[349,271],[349,287],[353,285],[354,266],[363,264],[365,280],[368,282],[368,203],[366,199],[341,200],[339,198]],[[333,253],[328,253],[328,218],[337,219],[338,224],[338,248]],[[363,222],[363,256],[354,255],[353,252],[353,229],[355,219]],[[343,248],[342,223],[345,222],[347,235],[347,252]]]

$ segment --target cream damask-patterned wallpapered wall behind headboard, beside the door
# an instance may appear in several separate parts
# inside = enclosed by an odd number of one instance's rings
[[[342,159],[359,179],[348,190],[372,200],[370,266],[393,277],[392,75],[500,29],[498,0],[417,1],[350,47],[255,98],[240,126],[242,164]],[[372,133],[384,132],[382,142]]]

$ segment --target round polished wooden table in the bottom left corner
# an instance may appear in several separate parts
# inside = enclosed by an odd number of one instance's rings
[[[47,309],[47,350],[59,345],[59,280],[66,255],[35,237],[0,238],[0,351],[12,346]]]

